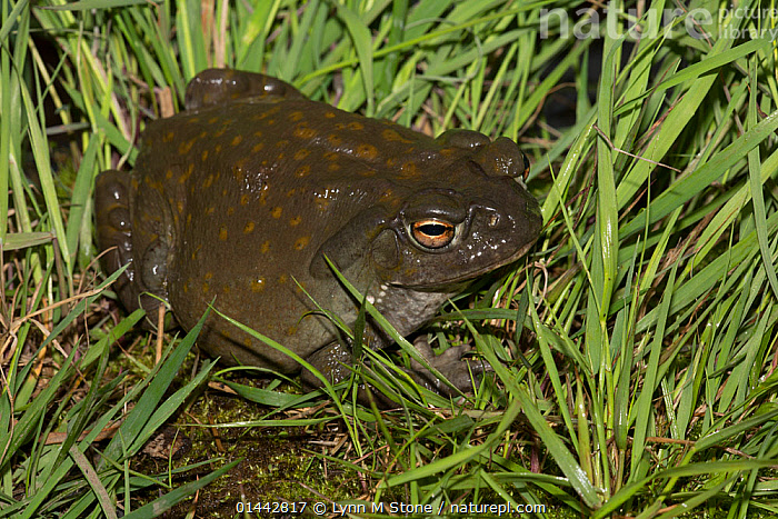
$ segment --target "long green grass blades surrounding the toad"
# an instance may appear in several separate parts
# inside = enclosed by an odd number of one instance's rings
[[[737,19],[695,2],[664,27],[648,20],[677,4],[640,6],[578,14],[599,17],[599,38],[576,39],[553,22],[539,38],[541,12],[589,4],[2,2],[0,518],[156,517],[207,491],[230,462],[136,467],[163,423],[194,433],[187,413],[219,380],[258,410],[226,426],[345,435],[303,461],[359,475],[362,496],[325,490],[341,503],[778,513],[778,48],[769,34],[742,37],[775,31],[776,4],[741,2],[768,16]],[[694,26],[700,9],[716,23]],[[627,34],[636,21],[639,41]],[[329,391],[335,403],[282,379],[258,389],[208,361],[181,370],[193,332],[169,336],[160,363],[134,353],[156,337],[142,316],[108,310],[93,178],[131,168],[144,122],[180,110],[187,80],[212,66],[261,70],[433,134],[518,140],[543,233],[526,262],[480,280],[428,329],[438,345],[475,345],[495,368],[473,398],[420,392],[371,352],[362,375],[403,396],[399,411],[361,406],[349,388]],[[576,120],[560,129],[542,108],[562,88]],[[67,163],[52,168],[54,151]],[[316,491],[307,500],[323,501]]]

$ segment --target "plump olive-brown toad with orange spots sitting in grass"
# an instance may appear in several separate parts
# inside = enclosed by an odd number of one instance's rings
[[[109,271],[130,263],[116,286],[130,310],[154,311],[153,295],[189,329],[213,302],[337,379],[351,355],[312,300],[347,323],[360,301],[325,257],[405,336],[540,231],[527,161],[507,138],[432,139],[229,70],[196,77],[186,108],[148,126],[131,174],[97,180],[98,239],[116,247]],[[371,322],[366,340],[391,342]],[[228,362],[299,369],[213,313],[199,342]],[[458,358],[431,360],[467,385]]]

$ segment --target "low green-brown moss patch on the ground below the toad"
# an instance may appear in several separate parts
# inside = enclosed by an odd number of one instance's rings
[[[257,383],[258,380],[253,380]],[[250,383],[242,380],[243,383]],[[325,460],[316,453],[318,431],[308,427],[200,427],[209,423],[251,422],[268,409],[216,391],[206,391],[181,413],[172,428],[187,438],[172,460],[179,468],[221,458],[174,480],[177,486],[203,476],[225,462],[242,458],[242,462],[198,496],[197,512],[202,517],[230,517],[238,502],[299,502],[355,499],[362,493],[356,470]],[[174,435],[170,435],[171,437]],[[133,469],[142,473],[164,473],[168,458],[149,455]],[[134,505],[150,501],[141,496]],[[184,517],[191,499],[167,512],[164,518]]]

